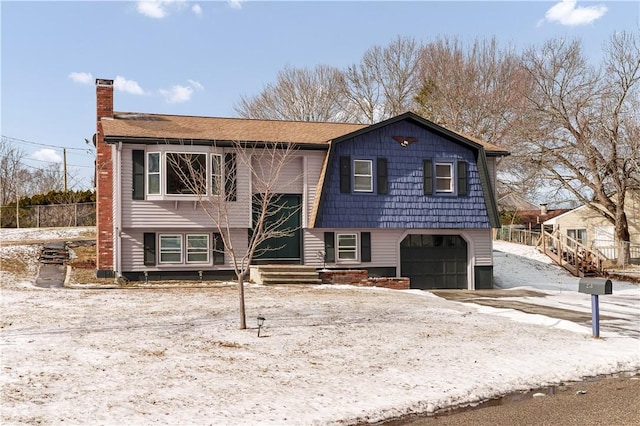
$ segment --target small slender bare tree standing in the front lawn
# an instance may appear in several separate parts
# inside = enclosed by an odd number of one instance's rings
[[[221,236],[224,253],[230,257],[237,279],[240,329],[246,328],[244,282],[253,260],[281,247],[270,243],[277,238],[290,237],[297,230],[287,226],[300,206],[286,206],[281,202],[283,191],[300,179],[284,175],[287,166],[296,156],[297,147],[286,143],[248,145],[234,142],[223,157],[212,160],[211,175],[204,172],[206,166],[197,155],[176,154],[168,157],[169,167],[184,186],[184,192],[197,196],[198,204]],[[206,161],[206,160],[205,160]],[[238,175],[247,174],[252,194],[238,191]],[[236,199],[236,197],[238,197]],[[245,197],[241,200],[241,197]],[[232,241],[233,206],[246,201],[252,211],[252,228],[246,247]],[[247,209],[244,211],[247,211]]]

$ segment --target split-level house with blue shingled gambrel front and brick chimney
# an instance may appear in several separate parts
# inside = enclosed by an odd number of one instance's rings
[[[298,231],[259,262],[366,269],[408,277],[412,288],[492,287],[496,158],[505,150],[413,113],[374,125],[118,113],[113,81],[96,86],[98,276],[229,275],[219,231],[196,197],[181,193],[167,161],[186,153],[206,173],[225,174],[233,141],[278,142],[298,149],[292,179],[277,189],[300,206],[289,222]],[[238,166],[224,181],[231,241],[242,252],[251,173]]]

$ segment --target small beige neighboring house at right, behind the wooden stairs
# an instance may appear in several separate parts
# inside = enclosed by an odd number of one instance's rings
[[[640,245],[640,192],[629,191],[626,196],[625,213],[629,223],[632,246]],[[602,214],[589,206],[580,206],[544,222],[554,232],[572,238],[589,249],[597,249],[608,259],[617,258],[615,227]],[[640,257],[638,249],[631,252],[633,258]]]

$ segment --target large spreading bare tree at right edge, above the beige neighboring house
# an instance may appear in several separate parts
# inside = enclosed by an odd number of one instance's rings
[[[523,110],[530,123],[521,147],[547,183],[567,191],[615,226],[618,263],[628,262],[627,190],[637,187],[640,147],[640,46],[614,34],[602,67],[591,66],[579,41],[528,49],[523,67],[535,82]]]

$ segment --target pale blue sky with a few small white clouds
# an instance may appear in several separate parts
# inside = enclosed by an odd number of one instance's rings
[[[286,65],[339,68],[398,36],[495,36],[522,49],[580,38],[597,62],[614,31],[640,30],[634,1],[2,1],[2,135],[27,165],[61,163],[91,184],[95,78],[115,109],[235,116]]]

